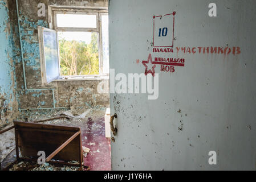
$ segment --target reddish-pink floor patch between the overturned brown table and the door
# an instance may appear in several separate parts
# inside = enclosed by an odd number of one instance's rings
[[[91,171],[111,170],[110,140],[105,138],[104,117],[89,118],[86,126],[82,127],[82,144],[90,148],[90,153],[84,158],[84,165],[90,166]]]

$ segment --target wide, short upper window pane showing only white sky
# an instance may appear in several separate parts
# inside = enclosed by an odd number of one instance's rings
[[[57,27],[96,28],[96,15],[56,14]]]

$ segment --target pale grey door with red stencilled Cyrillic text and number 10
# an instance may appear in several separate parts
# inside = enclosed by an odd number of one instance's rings
[[[214,2],[109,1],[113,170],[255,170],[256,6]]]

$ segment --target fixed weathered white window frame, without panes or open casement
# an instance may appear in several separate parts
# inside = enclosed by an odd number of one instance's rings
[[[58,27],[56,21],[57,14],[83,14],[83,15],[96,15],[96,28],[82,28],[82,27]],[[103,73],[103,40],[102,40],[102,27],[101,16],[108,15],[106,8],[82,8],[73,9],[67,7],[51,7],[49,11],[49,24],[50,29],[56,31],[58,52],[59,52],[59,39],[58,32],[96,32],[98,35],[98,47],[99,47],[99,75],[60,75],[60,56],[59,56],[59,78],[54,81],[74,81],[74,80],[106,80],[109,78],[109,73]]]

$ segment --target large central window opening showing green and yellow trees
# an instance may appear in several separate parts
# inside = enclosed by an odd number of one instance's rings
[[[60,75],[99,75],[96,32],[58,32]]]

